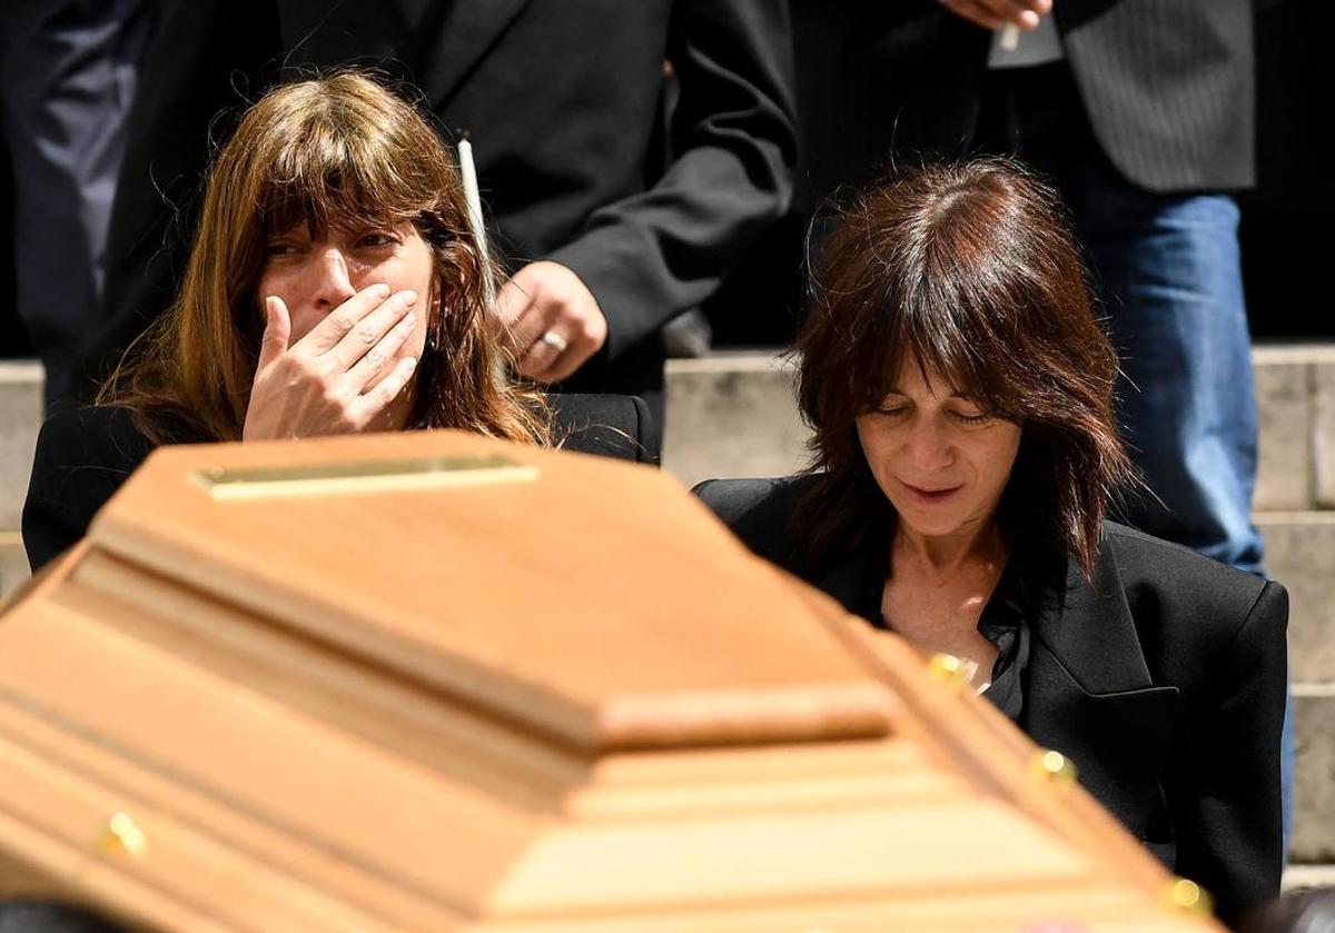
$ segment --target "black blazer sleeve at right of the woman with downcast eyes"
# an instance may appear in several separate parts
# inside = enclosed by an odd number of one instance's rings
[[[1181,780],[1168,789],[1177,874],[1211,892],[1226,920],[1279,896],[1287,622],[1288,594],[1267,583],[1223,657],[1207,661],[1200,714],[1179,751]]]

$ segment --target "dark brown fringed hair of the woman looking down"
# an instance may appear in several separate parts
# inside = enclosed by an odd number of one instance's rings
[[[1108,499],[1135,474],[1116,354],[1057,195],[1003,160],[900,170],[840,214],[821,256],[797,346],[821,473],[796,517],[810,555],[856,547],[886,514],[856,419],[916,362],[1023,426],[1003,527],[1091,574]]]

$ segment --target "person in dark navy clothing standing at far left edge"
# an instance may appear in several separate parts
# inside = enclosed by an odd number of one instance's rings
[[[103,248],[155,0],[0,4],[0,355],[41,359],[49,406],[99,318]],[[12,175],[11,175],[12,171]],[[12,291],[7,287],[12,282]]]

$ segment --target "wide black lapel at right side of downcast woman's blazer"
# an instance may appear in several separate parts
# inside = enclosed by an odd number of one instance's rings
[[[1179,691],[1153,686],[1107,553],[1092,583],[1068,562],[1032,633],[1021,725],[1039,745],[1071,758],[1089,793],[1144,838],[1161,796]]]

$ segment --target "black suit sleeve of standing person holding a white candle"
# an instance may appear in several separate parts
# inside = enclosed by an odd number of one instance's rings
[[[782,0],[684,0],[668,57],[681,152],[645,192],[593,212],[549,258],[589,287],[618,358],[702,302],[788,208],[797,131]]]

